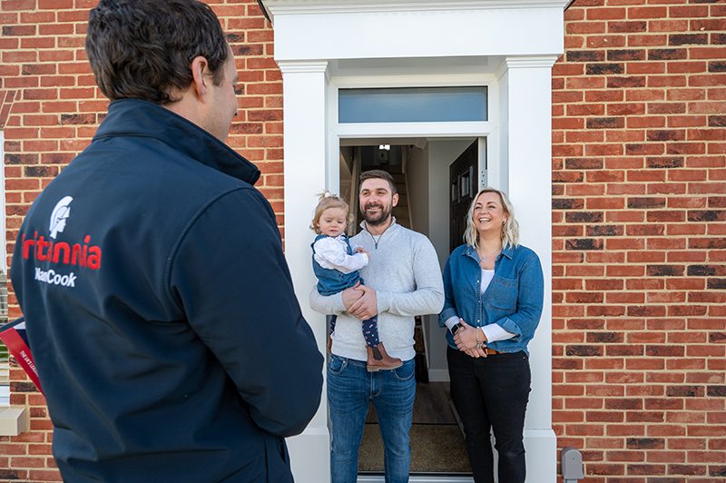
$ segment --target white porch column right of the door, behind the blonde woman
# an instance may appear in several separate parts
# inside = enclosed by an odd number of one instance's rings
[[[525,419],[527,481],[554,482],[552,430],[552,66],[555,56],[508,57],[501,75],[501,186],[520,223],[521,242],[540,257],[544,311],[529,344],[532,392]],[[494,181],[493,181],[494,182]]]

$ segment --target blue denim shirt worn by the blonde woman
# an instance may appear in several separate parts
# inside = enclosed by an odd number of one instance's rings
[[[475,327],[495,323],[515,337],[486,343],[487,347],[500,352],[524,350],[529,354],[527,344],[535,336],[544,299],[539,257],[522,245],[508,246],[496,257],[494,270],[494,279],[482,294],[482,269],[476,249],[464,244],[452,251],[444,270],[446,300],[438,324],[446,327],[444,322],[451,317],[464,319]],[[446,340],[456,349],[448,330]]]

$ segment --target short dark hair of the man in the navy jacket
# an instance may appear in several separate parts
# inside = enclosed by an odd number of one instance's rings
[[[106,97],[170,104],[193,80],[191,61],[207,59],[212,83],[229,55],[217,15],[197,0],[101,0],[88,16],[85,51]]]

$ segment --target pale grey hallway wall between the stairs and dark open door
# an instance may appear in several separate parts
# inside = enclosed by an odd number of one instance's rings
[[[448,168],[472,141],[449,139],[428,142],[428,238],[437,250],[442,273],[448,259]],[[424,326],[428,342],[428,378],[446,381],[446,329],[438,326],[435,316],[427,317]]]

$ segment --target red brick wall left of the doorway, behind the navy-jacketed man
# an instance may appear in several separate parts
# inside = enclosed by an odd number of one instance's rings
[[[229,35],[240,74],[240,113],[228,143],[256,163],[258,187],[283,224],[282,82],[272,60],[272,27],[256,0],[208,1]],[[0,116],[5,124],[8,251],[37,194],[89,143],[108,101],[83,52],[97,0],[0,0]],[[0,119],[2,121],[2,119]],[[11,294],[11,316],[19,315]],[[11,371],[11,404],[30,407],[32,431],[0,437],[0,480],[59,480],[43,397]],[[51,469],[48,469],[51,468]]]

